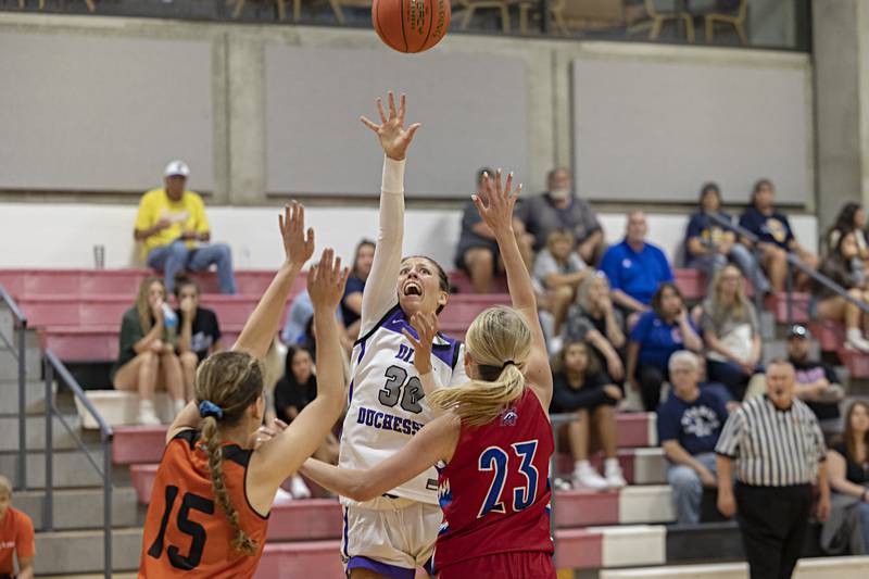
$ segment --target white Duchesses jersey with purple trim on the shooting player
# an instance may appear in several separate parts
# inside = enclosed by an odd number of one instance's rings
[[[433,418],[413,364],[414,349],[402,335],[403,329],[416,336],[396,304],[353,348],[352,380],[338,463],[342,468],[374,467],[401,450]],[[463,357],[459,341],[440,335],[436,338],[431,369],[438,383],[453,386],[467,381]],[[438,471],[432,466],[388,494],[438,504]],[[361,504],[344,496],[341,502],[369,508],[377,508],[378,503],[375,500]]]

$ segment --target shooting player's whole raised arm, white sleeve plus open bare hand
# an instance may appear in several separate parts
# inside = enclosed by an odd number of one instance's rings
[[[362,123],[370,128],[383,149],[383,180],[380,189],[380,225],[377,246],[374,250],[371,272],[362,294],[362,326],[364,336],[395,303],[395,279],[401,267],[402,242],[404,240],[404,160],[407,147],[419,128],[415,123],[404,128],[405,96],[402,95],[395,110],[395,97],[390,91],[389,117],[383,113],[383,103],[377,99],[380,124],[362,116]]]

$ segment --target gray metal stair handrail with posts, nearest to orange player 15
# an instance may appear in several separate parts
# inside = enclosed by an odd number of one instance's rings
[[[53,504],[54,504],[54,481],[53,481],[53,419],[54,416],[60,419],[70,436],[75,440],[78,448],[85,453],[85,456],[93,466],[95,470],[102,477],[102,508],[103,508],[103,576],[106,579],[112,577],[112,439],[114,438],[114,430],[103,419],[97,408],[91,404],[85,391],[78,385],[78,381],[70,374],[66,366],[63,365],[58,356],[51,350],[46,350],[45,354],[46,365],[46,502],[42,507],[42,528],[45,530],[52,530],[53,528]],[[75,398],[81,403],[83,406],[97,421],[100,428],[100,444],[102,445],[102,468],[97,464],[93,457],[88,452],[87,446],[81,439],[75,433],[74,429],[70,426],[66,419],[58,408],[54,406],[54,400],[51,397],[51,386],[54,381],[54,375],[62,379]]]

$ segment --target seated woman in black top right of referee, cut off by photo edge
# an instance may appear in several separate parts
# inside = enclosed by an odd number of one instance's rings
[[[845,419],[845,439],[827,453],[830,517],[821,549],[830,555],[869,554],[869,404],[854,402]]]

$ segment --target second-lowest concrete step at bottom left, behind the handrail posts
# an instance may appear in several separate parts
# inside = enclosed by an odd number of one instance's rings
[[[34,519],[37,531],[42,530],[45,500],[45,492],[15,492],[15,508]],[[102,528],[102,488],[56,490],[53,501],[54,530]],[[138,508],[135,489],[119,487],[112,490],[112,526],[135,527],[138,524]]]

